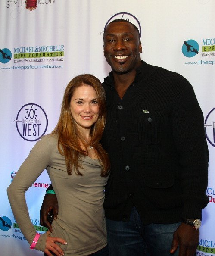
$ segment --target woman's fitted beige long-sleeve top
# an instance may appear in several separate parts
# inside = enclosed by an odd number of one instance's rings
[[[82,156],[83,176],[68,175],[65,157],[57,148],[58,137],[46,135],[35,144],[7,189],[12,212],[22,234],[31,244],[36,231],[31,223],[25,200],[25,191],[47,169],[59,204],[59,213],[53,221],[52,237],[61,237],[59,244],[65,255],[89,255],[106,246],[106,221],[103,210],[104,186],[108,178],[100,176],[98,159]],[[39,238],[36,249],[44,251],[46,233]]]

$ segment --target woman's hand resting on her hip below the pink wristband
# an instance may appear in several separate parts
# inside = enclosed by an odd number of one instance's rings
[[[59,237],[50,237],[50,231],[47,231],[47,239],[46,239],[46,249],[44,253],[46,253],[48,256],[53,256],[51,252],[54,254],[61,256],[64,255],[63,250],[59,247],[59,245],[55,244],[56,242],[61,244],[66,244],[66,241]]]

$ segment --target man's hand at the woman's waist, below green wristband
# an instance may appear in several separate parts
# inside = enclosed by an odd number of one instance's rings
[[[58,215],[58,202],[55,194],[46,194],[40,211],[40,225],[48,228],[52,232],[52,226],[48,222],[47,216],[49,211],[53,209],[54,219]]]

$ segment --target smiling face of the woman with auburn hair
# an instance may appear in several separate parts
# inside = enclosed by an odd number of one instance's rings
[[[70,100],[70,111],[78,129],[90,129],[99,117],[96,91],[92,86],[83,84],[77,87]]]

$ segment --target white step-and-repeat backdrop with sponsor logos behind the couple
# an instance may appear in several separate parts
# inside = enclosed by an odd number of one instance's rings
[[[59,118],[67,83],[110,72],[103,30],[128,19],[140,30],[147,63],[178,72],[193,85],[203,110],[209,147],[209,204],[197,255],[215,256],[215,1],[1,0],[0,1],[0,255],[39,256],[30,250],[12,214],[6,188],[34,144]],[[193,129],[192,122],[187,123]],[[49,186],[44,171],[26,193],[38,232]]]

